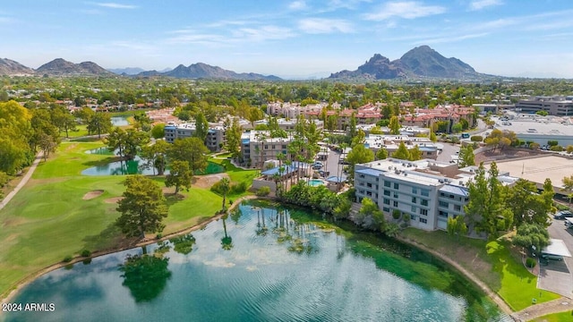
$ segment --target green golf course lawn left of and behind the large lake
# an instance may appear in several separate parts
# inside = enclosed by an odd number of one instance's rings
[[[127,242],[115,227],[119,214],[112,198],[124,191],[124,176],[82,176],[81,171],[103,165],[109,156],[88,154],[101,142],[64,142],[41,162],[30,182],[0,211],[0,297],[23,278],[61,262],[81,250],[109,250]],[[252,171],[233,169],[235,181],[248,180]],[[164,187],[165,178],[154,178]],[[90,191],[103,193],[83,199]],[[197,188],[169,196],[164,234],[200,223],[221,208],[222,198]]]

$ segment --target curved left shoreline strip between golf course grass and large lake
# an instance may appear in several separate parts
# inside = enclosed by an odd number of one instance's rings
[[[233,204],[227,208],[227,212],[230,210],[235,209],[238,205],[240,205],[244,200],[249,200],[249,199],[257,199],[259,197],[255,196],[255,195],[247,195],[244,197],[241,197],[239,199],[236,199]],[[141,242],[137,242],[133,245],[129,245],[129,246],[124,246],[124,247],[119,247],[119,248],[115,248],[115,249],[109,249],[109,250],[102,250],[102,251],[95,251],[94,253],[91,254],[90,257],[77,257],[77,258],[73,258],[71,261],[69,262],[58,262],[56,264],[52,264],[50,266],[41,268],[40,270],[38,270],[36,273],[33,273],[31,275],[28,275],[24,278],[22,278],[20,281],[16,282],[15,284],[13,284],[13,289],[9,290],[7,292],[5,292],[5,297],[0,297],[0,301],[3,303],[6,302],[10,302],[14,299],[14,297],[16,295],[18,295],[18,293],[21,291],[21,289],[23,287],[25,287],[26,285],[32,283],[33,281],[35,281],[36,279],[38,279],[38,277],[40,277],[41,275],[45,275],[49,272],[55,271],[58,268],[62,268],[62,267],[66,267],[68,265],[73,265],[75,263],[81,262],[82,260],[85,259],[93,259],[93,258],[98,258],[101,256],[105,256],[108,254],[113,254],[115,252],[119,252],[119,251],[123,251],[123,250],[131,250],[134,248],[138,248],[141,246],[145,246],[145,245],[150,245],[152,243],[156,243],[156,242],[162,242],[162,241],[166,241],[170,238],[185,234],[185,233],[191,233],[193,231],[196,231],[198,229],[201,229],[202,227],[204,227],[205,225],[210,224],[211,222],[220,219],[222,216],[224,216],[225,214],[218,214],[216,216],[212,216],[210,217],[208,220],[205,220],[204,222],[202,222],[201,224],[196,224],[196,225],[192,225],[191,227],[187,227],[184,228],[182,230],[176,231],[174,233],[169,233],[159,239],[153,238],[153,239],[144,239]],[[4,296],[4,294],[2,294]],[[0,311],[0,316],[2,316],[2,312]]]

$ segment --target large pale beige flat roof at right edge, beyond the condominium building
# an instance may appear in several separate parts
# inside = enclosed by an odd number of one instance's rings
[[[543,184],[546,178],[551,179],[553,187],[563,188],[561,180],[570,169],[573,169],[573,159],[556,155],[531,157],[522,159],[509,159],[495,161],[500,174],[509,173],[517,178],[523,178],[530,182]],[[485,164],[489,169],[491,162]]]

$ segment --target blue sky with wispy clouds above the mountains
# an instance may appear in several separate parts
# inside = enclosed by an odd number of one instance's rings
[[[292,78],[428,45],[477,72],[573,78],[572,17],[570,0],[18,0],[0,7],[0,57]]]

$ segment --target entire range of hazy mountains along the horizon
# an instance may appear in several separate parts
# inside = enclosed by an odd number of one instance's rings
[[[237,73],[210,64],[178,65],[173,70],[144,71],[138,67],[106,70],[98,64],[83,62],[73,64],[62,58],[57,58],[33,70],[10,59],[0,58],[0,75],[36,74],[48,76],[111,76],[120,74],[129,77],[167,76],[181,79],[222,79],[222,80],[281,80],[274,75],[261,75],[253,72]],[[396,80],[396,79],[483,79],[486,76],[475,72],[474,68],[458,58],[446,58],[428,46],[415,47],[399,59],[390,61],[389,58],[375,54],[355,71],[331,73],[333,80]]]

